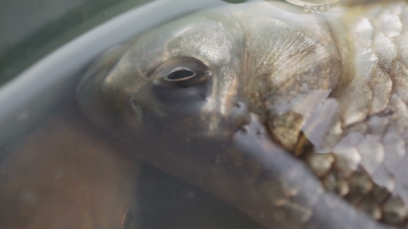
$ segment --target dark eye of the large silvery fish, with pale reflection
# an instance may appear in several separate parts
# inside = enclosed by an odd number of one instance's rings
[[[189,112],[201,107],[211,90],[211,70],[193,58],[167,61],[154,74],[153,92],[169,110]]]

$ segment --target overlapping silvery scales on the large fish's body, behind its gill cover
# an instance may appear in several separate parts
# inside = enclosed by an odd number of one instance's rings
[[[358,99],[358,103],[366,103],[359,104],[359,109],[340,106],[344,109],[340,111],[342,125],[346,127],[332,150],[334,159],[315,153],[307,156],[308,164],[322,177],[326,188],[345,196],[375,219],[396,225],[405,225],[408,214],[405,178],[408,75],[402,63],[406,59],[402,42],[407,34],[402,21],[408,21],[407,14],[402,12],[406,11],[407,5],[400,2],[389,7],[365,8],[365,13],[347,19],[355,52],[353,81],[366,83],[371,94],[365,97],[371,99]],[[350,94],[340,95],[340,103],[352,99],[353,91],[361,86],[349,87],[351,90],[346,92]],[[313,158],[323,160],[324,168]],[[366,179],[359,179],[364,176]],[[359,192],[357,189],[362,186],[367,188]],[[378,192],[385,197],[378,198]]]

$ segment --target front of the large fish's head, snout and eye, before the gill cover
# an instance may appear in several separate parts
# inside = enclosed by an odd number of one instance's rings
[[[166,123],[218,135],[237,107],[241,32],[230,16],[215,13],[167,23],[106,51],[82,79],[77,100],[105,130]]]

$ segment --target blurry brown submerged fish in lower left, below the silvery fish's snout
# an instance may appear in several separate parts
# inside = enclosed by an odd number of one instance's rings
[[[0,163],[0,228],[138,228],[135,163],[89,133],[64,114],[10,150]]]

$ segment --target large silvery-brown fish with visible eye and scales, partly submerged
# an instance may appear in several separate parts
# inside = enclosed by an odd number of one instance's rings
[[[405,228],[408,3],[301,10],[167,23],[108,50],[77,99],[126,150],[268,228]]]

